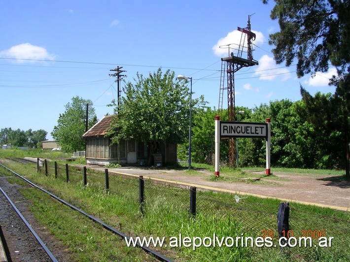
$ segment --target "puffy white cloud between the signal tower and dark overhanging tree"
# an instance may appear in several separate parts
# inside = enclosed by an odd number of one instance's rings
[[[263,55],[260,58],[254,75],[260,76],[260,80],[274,80],[279,75],[282,75],[282,81],[284,81],[291,77],[286,67],[277,66],[275,60],[268,55]]]

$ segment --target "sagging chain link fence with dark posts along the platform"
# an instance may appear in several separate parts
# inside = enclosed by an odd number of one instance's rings
[[[103,173],[86,169],[86,167],[69,164],[64,166],[45,161],[39,170],[46,175],[54,174],[56,179],[105,190],[108,194],[128,197],[135,202],[139,201],[140,211],[146,214],[160,206],[179,212],[188,212],[189,216],[195,216],[198,213],[206,216],[230,214],[240,221],[245,232],[249,232],[254,237],[269,236],[274,239],[278,239],[279,236],[311,237],[316,240],[324,236],[333,237],[332,247],[336,246],[337,250],[348,250],[350,245],[350,215],[345,211],[337,211],[336,216],[319,215],[316,212],[295,207],[294,203],[291,206],[288,203],[289,216],[285,227],[287,230],[281,233],[278,229],[280,206],[277,204],[272,207],[271,202],[268,201],[266,203],[254,201],[239,194],[197,191],[196,188],[180,187],[176,183],[164,184],[158,180],[143,179],[142,176],[109,174],[108,169]]]

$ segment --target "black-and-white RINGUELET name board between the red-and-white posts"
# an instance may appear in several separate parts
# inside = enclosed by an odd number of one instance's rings
[[[267,123],[220,122],[220,137],[267,138]]]

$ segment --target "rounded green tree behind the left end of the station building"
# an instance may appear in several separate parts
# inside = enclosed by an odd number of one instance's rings
[[[65,112],[60,114],[57,126],[51,132],[52,137],[66,152],[85,150],[85,119],[86,104],[89,104],[88,127],[91,128],[96,122],[95,109],[89,99],[78,96],[71,98],[71,102],[65,105]]]

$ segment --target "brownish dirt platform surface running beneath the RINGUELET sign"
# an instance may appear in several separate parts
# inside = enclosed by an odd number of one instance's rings
[[[181,170],[152,170],[137,167],[111,168],[111,171],[139,174],[198,186],[213,187],[267,197],[277,197],[289,201],[310,202],[321,205],[348,208],[350,211],[350,181],[340,181],[339,176],[319,174],[298,174],[274,172],[281,180],[267,180],[265,184],[212,182],[209,172],[188,175]],[[263,172],[260,172],[263,173]],[[207,178],[207,179],[206,179]],[[271,183],[269,181],[277,182]],[[271,183],[271,185],[269,185]]]

